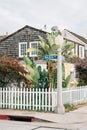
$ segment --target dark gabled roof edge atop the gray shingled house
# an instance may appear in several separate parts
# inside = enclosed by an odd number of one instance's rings
[[[25,28],[34,29],[34,30],[36,30],[36,31],[41,31],[41,32],[43,32],[43,33],[49,33],[49,32],[47,32],[47,31],[43,31],[43,30],[41,30],[41,29],[37,29],[37,28],[34,28],[34,27],[31,27],[31,26],[26,25],[26,26],[22,27],[21,29],[17,30],[16,32],[14,32],[14,33],[12,33],[12,34],[6,36],[6,37],[1,38],[1,39],[0,39],[0,42],[6,40],[7,38],[9,38],[9,37],[11,37],[11,36],[13,36],[13,35],[15,35],[16,33],[22,31],[22,30],[25,29]]]

